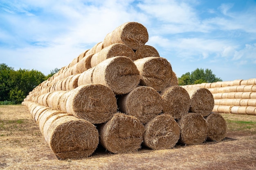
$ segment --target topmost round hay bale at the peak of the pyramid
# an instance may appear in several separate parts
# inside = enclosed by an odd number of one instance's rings
[[[108,33],[103,40],[103,47],[115,43],[126,44],[133,50],[145,45],[148,41],[148,31],[145,26],[138,22],[126,22]]]

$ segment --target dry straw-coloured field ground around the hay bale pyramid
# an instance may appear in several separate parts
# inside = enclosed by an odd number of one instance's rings
[[[255,170],[256,116],[222,114],[225,140],[176,145],[169,150],[111,154],[101,147],[91,157],[58,160],[25,106],[0,106],[0,169],[7,170]]]

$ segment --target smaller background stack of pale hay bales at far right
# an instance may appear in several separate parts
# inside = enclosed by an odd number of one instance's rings
[[[256,78],[182,86],[203,87],[213,94],[217,113],[256,115]]]

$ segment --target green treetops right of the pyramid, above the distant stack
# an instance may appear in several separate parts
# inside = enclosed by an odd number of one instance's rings
[[[185,73],[178,78],[180,86],[188,84],[201,84],[201,83],[212,83],[212,82],[221,82],[222,79],[216,77],[215,74],[210,69],[197,68],[191,73]]]

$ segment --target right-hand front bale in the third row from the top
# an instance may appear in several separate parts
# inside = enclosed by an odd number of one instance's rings
[[[150,86],[162,91],[170,86],[173,70],[171,64],[162,57],[146,57],[134,61],[141,75],[141,86]]]

